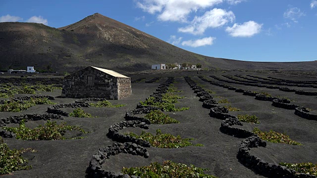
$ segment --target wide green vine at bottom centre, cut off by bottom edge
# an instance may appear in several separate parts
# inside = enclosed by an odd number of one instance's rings
[[[150,166],[122,168],[123,174],[138,176],[141,178],[216,178],[215,176],[204,174],[208,169],[197,168],[194,165],[187,166],[172,161],[164,161],[162,165],[158,162],[151,163]]]

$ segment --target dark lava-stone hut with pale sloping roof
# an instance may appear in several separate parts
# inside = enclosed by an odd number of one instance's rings
[[[111,70],[89,66],[64,78],[61,96],[121,99],[131,94],[131,78]]]

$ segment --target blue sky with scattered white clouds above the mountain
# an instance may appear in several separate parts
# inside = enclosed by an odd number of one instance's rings
[[[0,0],[0,22],[58,28],[96,12],[207,56],[317,60],[317,0]]]

